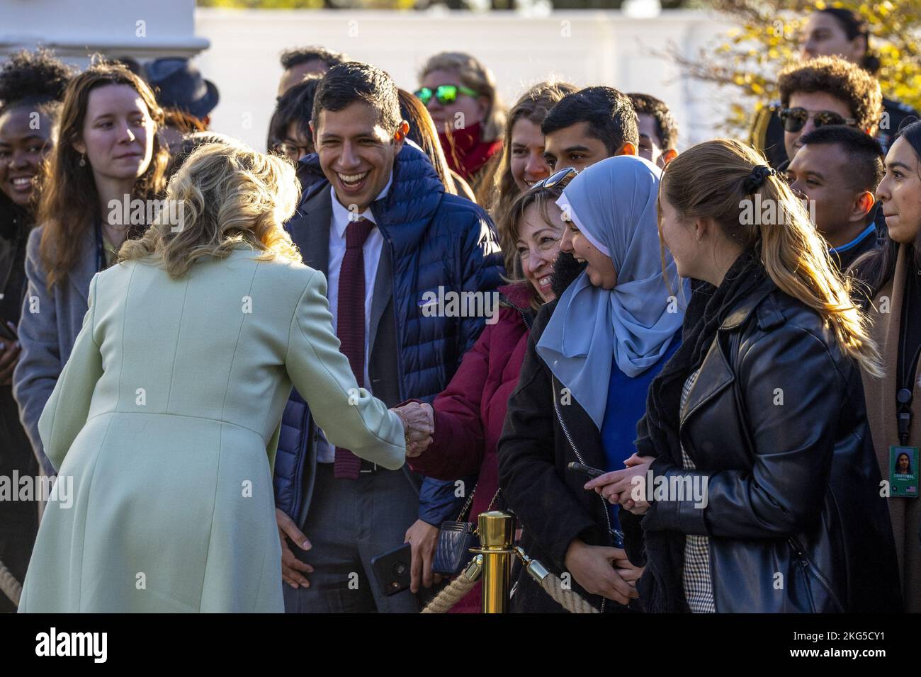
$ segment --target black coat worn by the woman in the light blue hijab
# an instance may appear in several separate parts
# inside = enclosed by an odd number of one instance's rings
[[[499,438],[499,486],[507,506],[524,528],[521,546],[557,576],[565,571],[569,543],[613,546],[607,504],[583,485],[584,475],[566,468],[569,461],[604,467],[601,436],[589,414],[571,397],[535,349],[556,301],[545,304],[531,327],[518,387],[508,399]],[[617,602],[589,595],[575,578],[572,589],[603,611],[626,611]],[[513,612],[562,612],[523,569],[519,572]]]

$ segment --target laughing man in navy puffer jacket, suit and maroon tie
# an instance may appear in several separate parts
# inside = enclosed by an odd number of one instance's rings
[[[316,178],[304,181],[291,237],[304,263],[327,275],[333,328],[358,383],[391,406],[430,402],[485,318],[426,299],[495,290],[502,257],[492,222],[446,194],[425,154],[403,143],[397,88],[378,68],[334,66],[317,89],[311,129],[317,155],[301,169]],[[388,471],[333,449],[297,392],[274,487],[289,612],[414,613],[408,590],[383,594],[370,560],[407,541],[414,582],[430,584],[437,525],[464,498],[454,483],[420,483],[408,467]]]

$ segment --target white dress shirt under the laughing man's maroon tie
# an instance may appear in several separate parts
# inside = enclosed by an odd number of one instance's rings
[[[390,193],[391,183],[393,183],[393,174],[387,181],[375,202],[386,197]],[[343,267],[345,258],[345,228],[356,220],[352,212],[346,209],[339,198],[336,197],[335,189],[330,186],[332,197],[332,222],[330,223],[330,263],[327,280],[326,296],[330,301],[330,312],[332,312],[332,329],[338,333],[339,321],[339,271]],[[376,223],[370,207],[358,216],[364,216],[371,223]],[[367,363],[370,353],[370,337],[368,332],[371,328],[371,302],[374,299],[374,282],[378,277],[378,264],[380,263],[380,252],[384,247],[384,236],[380,234],[378,228],[372,228],[370,234],[365,240],[365,247],[362,250],[365,259],[365,384],[364,388],[371,391],[371,378],[367,373]],[[335,461],[335,447],[327,441],[323,431],[320,431],[320,440],[317,445],[317,461],[320,463],[332,463]]]

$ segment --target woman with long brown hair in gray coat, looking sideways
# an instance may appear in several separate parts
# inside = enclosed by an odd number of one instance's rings
[[[41,450],[39,416],[87,313],[89,280],[114,262],[125,239],[143,232],[149,201],[163,191],[169,154],[157,134],[162,120],[153,92],[121,64],[92,64],[64,92],[38,228],[26,248],[29,288],[13,375],[20,417],[45,473],[53,469]]]

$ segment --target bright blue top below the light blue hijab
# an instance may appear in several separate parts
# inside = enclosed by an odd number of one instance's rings
[[[636,451],[636,424],[646,414],[646,397],[649,384],[665,366],[678,346],[681,345],[681,332],[676,332],[671,339],[665,355],[639,376],[629,377],[617,367],[611,366],[611,381],[608,385],[608,402],[604,408],[601,424],[601,446],[604,448],[604,470],[624,470],[624,461]],[[611,510],[611,527],[620,531],[621,522],[617,518],[620,506],[608,504]],[[615,542],[616,542],[615,538]],[[624,547],[623,543],[615,543]]]

